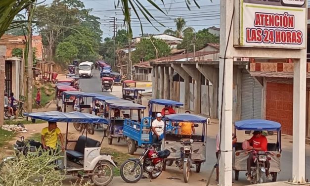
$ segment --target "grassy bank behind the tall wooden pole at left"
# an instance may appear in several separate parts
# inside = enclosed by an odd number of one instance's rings
[[[47,84],[41,87],[41,106],[45,106],[47,103],[49,103],[53,98],[55,97],[55,89],[52,88],[51,84]],[[34,86],[34,90],[32,92],[32,97],[34,100],[37,98],[37,93],[38,93],[38,86]],[[34,108],[37,108],[37,102],[33,101]]]

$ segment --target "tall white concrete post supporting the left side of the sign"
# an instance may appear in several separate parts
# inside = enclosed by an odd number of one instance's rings
[[[234,0],[221,0],[220,30],[220,73],[219,73],[219,118],[220,118],[220,180],[219,186],[231,186],[232,181],[232,79],[233,79],[233,29],[229,30],[233,14]],[[228,43],[229,41],[229,43]],[[228,43],[228,45],[227,45]],[[225,138],[230,137],[230,138]]]

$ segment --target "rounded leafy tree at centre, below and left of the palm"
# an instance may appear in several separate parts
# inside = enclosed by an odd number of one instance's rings
[[[144,61],[155,59],[157,57],[156,50],[158,51],[158,57],[164,57],[170,54],[171,49],[163,40],[155,39],[153,37],[142,39],[136,44],[136,50],[133,51],[133,63],[139,62],[140,59],[143,59]]]

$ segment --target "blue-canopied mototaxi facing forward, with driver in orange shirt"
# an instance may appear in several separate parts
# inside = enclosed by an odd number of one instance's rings
[[[164,139],[162,149],[170,150],[167,161],[176,161],[177,167],[183,169],[183,179],[189,180],[192,164],[196,165],[196,172],[200,172],[201,163],[206,161],[207,118],[194,114],[169,114],[165,116]],[[173,122],[179,125],[191,123],[196,133],[182,135],[182,128],[173,126]],[[164,170],[166,164],[164,165]]]

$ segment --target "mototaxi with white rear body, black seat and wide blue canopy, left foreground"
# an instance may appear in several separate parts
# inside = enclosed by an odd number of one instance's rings
[[[105,123],[107,120],[90,114],[80,112],[62,113],[58,111],[27,113],[32,120],[41,119],[49,122],[67,123],[65,150],[63,159],[58,160],[57,169],[65,174],[72,174],[84,178],[90,178],[95,186],[108,185],[114,176],[115,162],[110,155],[100,154],[101,142],[81,135],[77,140],[68,137],[69,123]],[[61,152],[60,152],[61,153]]]

